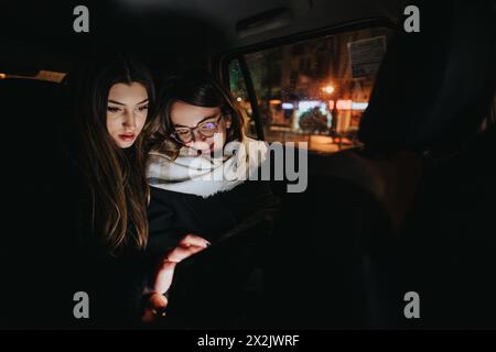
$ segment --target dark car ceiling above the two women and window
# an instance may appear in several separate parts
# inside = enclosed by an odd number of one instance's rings
[[[89,33],[73,31],[77,4],[89,9]],[[325,26],[375,18],[396,22],[403,4],[403,0],[10,1],[0,11],[0,72],[19,67],[67,72],[83,53],[106,47],[148,53],[172,66],[200,65],[236,47]],[[263,16],[271,11],[273,18]]]

